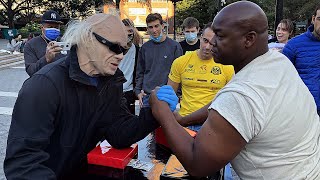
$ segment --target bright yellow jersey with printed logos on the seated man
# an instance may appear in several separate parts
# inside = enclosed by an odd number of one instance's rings
[[[179,114],[186,116],[207,105],[233,74],[233,66],[215,63],[213,58],[201,60],[197,50],[174,60],[169,79],[182,87]]]

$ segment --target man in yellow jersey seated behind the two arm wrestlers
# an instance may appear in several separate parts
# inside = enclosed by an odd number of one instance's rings
[[[234,74],[233,66],[215,63],[213,60],[209,41],[214,32],[210,26],[211,23],[208,23],[203,29],[200,49],[177,58],[171,66],[168,85],[175,91],[182,85],[180,116],[189,115],[211,102]],[[177,119],[182,126],[198,131],[206,118],[197,121]]]

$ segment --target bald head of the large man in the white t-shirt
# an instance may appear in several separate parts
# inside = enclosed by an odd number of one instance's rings
[[[252,2],[239,1],[223,8],[214,18],[212,29],[215,61],[233,65],[236,72],[268,51],[268,20]]]

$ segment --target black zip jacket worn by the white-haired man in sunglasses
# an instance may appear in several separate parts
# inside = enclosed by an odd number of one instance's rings
[[[76,47],[27,79],[13,110],[4,161],[7,179],[63,179],[103,137],[123,148],[157,128],[154,119],[129,113],[123,81],[120,70],[109,77],[87,76]]]

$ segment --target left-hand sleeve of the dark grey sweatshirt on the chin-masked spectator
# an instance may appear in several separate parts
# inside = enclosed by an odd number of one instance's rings
[[[136,96],[140,94],[142,90],[142,83],[144,78],[144,71],[145,71],[145,59],[143,54],[143,47],[140,48],[138,62],[137,62],[137,70],[136,70],[136,86],[134,88],[134,93]]]

